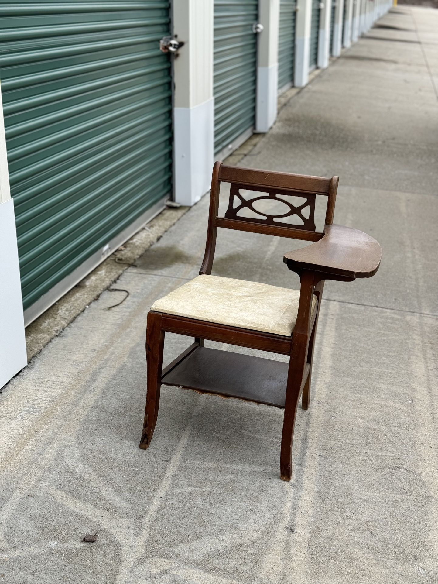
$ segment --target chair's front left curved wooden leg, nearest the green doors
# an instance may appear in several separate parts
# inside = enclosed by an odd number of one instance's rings
[[[157,422],[161,371],[163,366],[164,331],[161,329],[161,314],[148,313],[146,329],[147,392],[143,431],[140,448],[146,450],[154,434]]]

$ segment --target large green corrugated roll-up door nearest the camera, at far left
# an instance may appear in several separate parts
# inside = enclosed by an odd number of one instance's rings
[[[169,2],[20,0],[0,15],[26,309],[171,193]]]

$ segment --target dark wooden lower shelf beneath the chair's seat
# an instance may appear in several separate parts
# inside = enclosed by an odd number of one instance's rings
[[[199,346],[181,357],[161,383],[284,408],[287,363]]]

